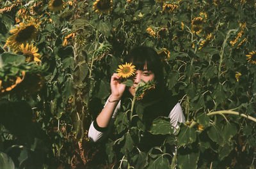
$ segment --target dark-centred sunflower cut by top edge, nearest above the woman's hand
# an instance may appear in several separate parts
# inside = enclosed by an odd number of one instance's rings
[[[112,0],[96,0],[93,3],[93,10],[99,12],[100,14],[108,14],[113,9],[113,1]]]

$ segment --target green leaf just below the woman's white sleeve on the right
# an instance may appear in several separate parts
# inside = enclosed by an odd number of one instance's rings
[[[196,129],[188,128],[182,124],[180,126],[180,132],[178,134],[178,146],[188,145],[196,141]]]

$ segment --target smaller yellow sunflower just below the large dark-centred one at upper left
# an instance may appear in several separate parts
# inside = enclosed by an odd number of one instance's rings
[[[27,62],[41,62],[41,60],[39,59],[41,55],[37,53],[38,48],[34,47],[33,44],[29,45],[27,43],[25,47],[24,44],[22,43],[22,45],[20,45],[19,47],[19,50],[17,50],[16,52],[22,52],[26,56]]]

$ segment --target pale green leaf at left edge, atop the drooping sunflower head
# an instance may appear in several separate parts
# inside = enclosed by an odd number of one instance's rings
[[[24,55],[17,55],[11,53],[3,53],[0,55],[0,68],[6,66],[8,63],[13,65],[19,65],[25,62],[26,57]]]

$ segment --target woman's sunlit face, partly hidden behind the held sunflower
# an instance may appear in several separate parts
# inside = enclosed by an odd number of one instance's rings
[[[147,69],[147,64],[144,65],[143,70],[136,70],[135,71],[135,75],[133,80],[133,85],[134,87],[129,87],[129,92],[132,94],[132,96],[134,96],[135,94],[135,89],[138,85],[138,83],[141,82],[141,80],[143,80],[144,82],[148,82],[150,80],[153,80],[155,77],[155,74]]]

